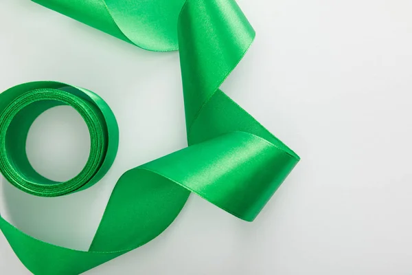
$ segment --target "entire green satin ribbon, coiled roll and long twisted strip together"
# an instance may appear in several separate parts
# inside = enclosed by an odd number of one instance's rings
[[[179,214],[190,192],[253,221],[299,157],[218,89],[255,36],[236,2],[36,1],[148,50],[179,46],[189,146],[120,177],[87,252],[34,239],[0,217],[0,229],[22,263],[36,275],[90,270],[158,236]],[[79,175],[58,183],[32,168],[25,140],[36,117],[61,104],[84,118],[91,153]],[[58,196],[95,184],[110,168],[117,144],[115,117],[91,91],[37,82],[0,94],[0,170],[25,192]]]

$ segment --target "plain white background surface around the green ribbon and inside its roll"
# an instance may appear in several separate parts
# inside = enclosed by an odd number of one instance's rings
[[[157,239],[86,274],[412,274],[412,1],[238,3],[257,39],[222,89],[301,162],[253,223],[192,195]],[[119,176],[186,146],[179,55],[1,0],[0,91],[32,80],[91,89],[119,122],[115,164],[92,188],[54,199],[0,188],[18,228],[87,250]],[[80,115],[59,107],[36,120],[27,152],[67,179],[88,139]],[[0,274],[30,274],[3,235]]]

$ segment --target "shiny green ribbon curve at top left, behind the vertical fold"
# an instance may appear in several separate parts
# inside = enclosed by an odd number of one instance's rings
[[[177,21],[185,0],[32,1],[145,50],[178,48]]]

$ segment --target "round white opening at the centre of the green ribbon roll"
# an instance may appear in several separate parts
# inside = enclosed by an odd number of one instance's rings
[[[67,181],[87,163],[89,129],[72,107],[54,107],[34,120],[25,146],[34,170],[47,179]]]

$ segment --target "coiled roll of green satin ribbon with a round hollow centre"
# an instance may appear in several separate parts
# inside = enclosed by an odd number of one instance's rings
[[[110,168],[118,146],[118,128],[111,109],[91,91],[54,82],[26,83],[3,92],[0,104],[0,170],[11,184],[32,195],[55,197],[95,184]],[[90,133],[90,154],[72,179],[43,177],[30,164],[25,144],[30,126],[44,111],[69,105],[82,116]]]

